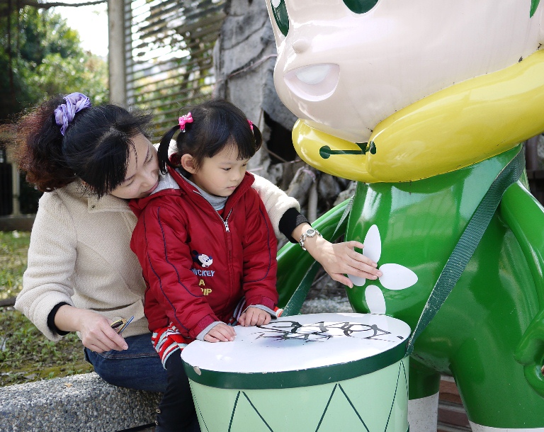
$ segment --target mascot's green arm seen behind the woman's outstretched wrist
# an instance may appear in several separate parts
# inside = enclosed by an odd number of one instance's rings
[[[346,200],[332,208],[313,222],[312,227],[321,232],[325,239],[331,242],[336,241],[346,233],[348,218],[344,217],[342,220],[342,216],[348,203],[349,200]],[[316,265],[312,266],[314,263]],[[300,306],[310,290],[317,270],[319,270],[319,263],[307,251],[303,251],[297,243],[288,243],[278,251],[278,282],[276,283],[280,295],[278,306],[285,308],[295,290],[299,285],[303,285],[297,291],[296,296],[299,298],[297,298],[296,304],[291,304],[289,310],[285,309],[286,315],[297,314],[300,311]]]

